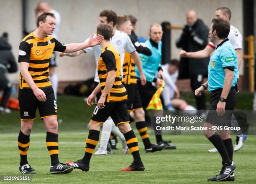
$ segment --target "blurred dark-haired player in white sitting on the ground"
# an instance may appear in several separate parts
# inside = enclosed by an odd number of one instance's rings
[[[164,106],[167,110],[182,110],[185,113],[192,115],[197,113],[197,109],[188,105],[186,101],[179,99],[179,89],[176,86],[176,81],[179,75],[179,61],[172,59],[162,66],[165,78],[164,90],[161,93],[164,99]]]

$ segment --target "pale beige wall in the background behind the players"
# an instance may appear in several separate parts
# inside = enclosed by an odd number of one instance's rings
[[[13,3],[9,3],[12,1]],[[8,1],[8,4],[15,4],[14,0],[12,1]],[[39,1],[26,0],[28,9],[26,27],[29,31],[36,28],[34,8]],[[21,5],[21,0],[15,2]],[[138,18],[136,33],[146,38],[148,38],[148,29],[151,23],[169,21],[172,25],[182,26],[186,24],[185,16],[191,9],[197,12],[198,18],[210,26],[216,8],[227,6],[232,12],[231,24],[241,33],[243,26],[241,0],[46,0],[46,2],[50,3],[52,8],[61,15],[59,41],[66,44],[83,42],[91,33],[95,32],[99,13],[104,9],[115,10],[118,15],[136,16]],[[6,13],[9,12],[8,6],[5,6],[5,10]],[[21,19],[20,13],[19,11],[15,13],[19,19]],[[16,26],[13,21],[8,24],[13,28]],[[179,38],[180,34],[181,30],[172,30],[172,58],[179,58],[179,49],[175,46],[175,40]],[[13,43],[18,44],[19,41],[20,38]],[[76,58],[58,58],[59,81],[84,81],[94,76],[95,67],[92,53]]]

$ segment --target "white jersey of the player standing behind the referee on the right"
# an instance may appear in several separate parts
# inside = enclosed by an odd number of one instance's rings
[[[243,41],[242,35],[239,32],[239,30],[235,28],[233,25],[230,25],[228,39],[230,40],[234,49],[242,49],[242,41]],[[212,42],[208,43],[208,45],[214,49],[216,48],[216,45]]]

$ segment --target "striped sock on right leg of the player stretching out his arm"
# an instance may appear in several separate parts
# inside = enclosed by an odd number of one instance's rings
[[[59,163],[58,134],[46,132],[46,146],[51,156],[51,166]]]

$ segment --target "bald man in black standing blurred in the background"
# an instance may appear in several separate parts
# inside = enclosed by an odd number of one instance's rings
[[[177,47],[187,52],[195,52],[204,49],[208,44],[208,27],[197,18],[194,10],[187,13],[187,25],[182,35],[177,40]],[[209,57],[203,59],[181,58],[179,64],[179,79],[190,78],[190,86],[195,91],[207,77]],[[195,97],[197,110],[206,110],[205,95]]]

